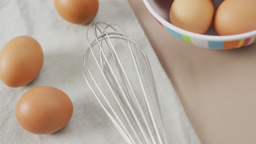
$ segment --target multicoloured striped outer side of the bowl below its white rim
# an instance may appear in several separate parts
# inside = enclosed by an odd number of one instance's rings
[[[155,17],[154,17],[155,18]],[[157,19],[155,19],[158,21]],[[216,50],[229,50],[229,49],[236,49],[238,47],[247,46],[256,42],[256,37],[241,39],[241,40],[234,40],[234,41],[206,41],[207,43],[204,44],[203,40],[199,41],[199,39],[192,39],[186,35],[182,35],[180,33],[172,31],[170,28],[162,25],[160,21],[158,21],[162,27],[164,27],[168,32],[173,34],[178,39],[181,39],[189,44],[200,46],[200,47],[207,47],[209,49],[216,49]]]

